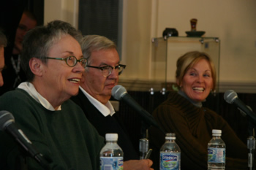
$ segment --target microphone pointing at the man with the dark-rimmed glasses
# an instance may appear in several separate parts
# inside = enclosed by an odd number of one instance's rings
[[[150,115],[145,109],[140,107],[140,104],[138,104],[137,101],[135,101],[132,98],[132,96],[129,96],[127,90],[123,86],[116,85],[115,87],[113,87],[111,93],[113,98],[115,98],[118,101],[124,101],[129,105],[129,107],[135,109],[140,114],[140,117],[142,117],[143,120],[145,120],[148,125],[154,125],[155,127],[159,128],[162,132],[164,132],[162,128],[159,127],[156,120],[154,120],[154,117]]]

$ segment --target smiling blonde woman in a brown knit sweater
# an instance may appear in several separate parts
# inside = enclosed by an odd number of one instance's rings
[[[179,90],[171,91],[153,116],[164,131],[176,134],[176,143],[181,148],[181,169],[207,169],[207,144],[212,129],[222,130],[226,144],[225,169],[247,169],[246,144],[220,115],[202,106],[216,88],[217,76],[211,58],[206,53],[192,51],[178,58],[176,67]],[[154,169],[159,169],[159,149],[165,142],[165,134],[157,128],[150,128],[148,133],[153,161],[156,161]]]

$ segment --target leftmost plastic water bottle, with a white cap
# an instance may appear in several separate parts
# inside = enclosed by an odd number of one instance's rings
[[[122,170],[124,153],[118,146],[118,134],[106,134],[106,144],[100,151],[100,170]]]

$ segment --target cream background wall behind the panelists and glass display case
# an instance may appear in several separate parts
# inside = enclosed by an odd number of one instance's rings
[[[78,0],[45,0],[45,23],[60,19],[77,27],[78,4]],[[165,28],[187,36],[189,20],[197,18],[197,31],[220,39],[220,91],[256,93],[255,0],[123,0],[123,4],[121,58],[127,69],[120,82],[148,85],[153,72],[151,39],[162,37]]]

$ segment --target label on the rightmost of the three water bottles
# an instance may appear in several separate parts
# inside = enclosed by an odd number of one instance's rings
[[[225,163],[225,148],[208,147],[208,163]]]

